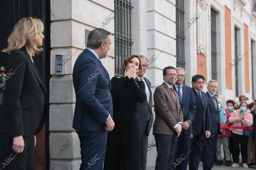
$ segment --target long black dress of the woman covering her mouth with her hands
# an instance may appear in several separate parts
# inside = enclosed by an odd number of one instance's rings
[[[137,102],[147,98],[145,84],[133,78],[113,77],[114,130],[108,133],[104,170],[140,170],[140,123]]]

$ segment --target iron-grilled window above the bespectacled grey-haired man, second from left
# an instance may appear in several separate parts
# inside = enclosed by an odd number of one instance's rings
[[[176,66],[185,68],[184,0],[176,0]]]

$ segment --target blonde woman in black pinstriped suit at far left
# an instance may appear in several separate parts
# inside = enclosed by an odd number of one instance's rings
[[[43,51],[43,23],[23,18],[8,47],[6,92],[0,112],[1,165],[5,170],[36,170],[36,134],[43,127],[46,87],[32,56]]]

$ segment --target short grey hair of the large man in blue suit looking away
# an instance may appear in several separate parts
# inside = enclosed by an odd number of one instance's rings
[[[107,30],[102,28],[96,28],[92,30],[88,35],[87,48],[98,49],[102,42],[108,44],[108,36],[111,35]]]

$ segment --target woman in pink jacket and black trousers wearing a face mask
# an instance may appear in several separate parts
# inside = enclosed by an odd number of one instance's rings
[[[252,115],[250,110],[248,109],[248,104],[246,102],[242,102],[239,105],[239,109],[235,110],[235,112],[229,117],[228,121],[233,123],[235,127],[250,127],[252,125]],[[238,159],[239,159],[239,144],[241,146],[241,155],[242,155],[242,165],[244,168],[248,168],[247,165],[247,144],[248,144],[248,136],[244,134],[245,130],[243,129],[233,129],[232,137],[233,137],[233,165],[232,167],[239,167]]]

